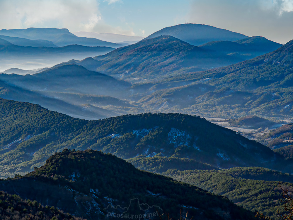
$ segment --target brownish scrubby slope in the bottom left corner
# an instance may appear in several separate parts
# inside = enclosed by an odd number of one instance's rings
[[[70,214],[65,214],[55,207],[42,206],[36,200],[21,199],[16,194],[0,191],[0,219],[1,220],[82,220]]]

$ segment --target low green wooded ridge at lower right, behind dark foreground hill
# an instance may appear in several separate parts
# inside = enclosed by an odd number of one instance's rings
[[[291,189],[293,176],[262,167],[237,167],[227,170],[168,170],[163,175],[172,177],[216,194],[224,195],[251,211],[259,211],[278,219],[282,209],[281,189]]]

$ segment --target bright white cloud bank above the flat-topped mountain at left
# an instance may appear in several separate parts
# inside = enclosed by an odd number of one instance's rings
[[[96,0],[1,0],[1,28],[57,27],[91,31],[102,19]]]

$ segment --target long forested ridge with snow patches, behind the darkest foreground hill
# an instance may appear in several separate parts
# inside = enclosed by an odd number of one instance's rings
[[[64,148],[102,150],[123,159],[160,154],[175,161],[168,169],[178,160],[188,169],[290,167],[268,147],[197,116],[149,113],[86,121],[0,100],[2,177],[29,172]]]

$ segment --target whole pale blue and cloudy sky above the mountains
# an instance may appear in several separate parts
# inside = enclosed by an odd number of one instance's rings
[[[148,36],[185,22],[285,44],[293,39],[293,0],[0,0],[0,29]]]

